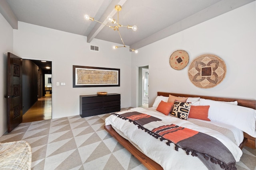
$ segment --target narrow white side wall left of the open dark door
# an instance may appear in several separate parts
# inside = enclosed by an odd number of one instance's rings
[[[0,14],[0,136],[7,131],[7,55],[13,50],[13,29]]]

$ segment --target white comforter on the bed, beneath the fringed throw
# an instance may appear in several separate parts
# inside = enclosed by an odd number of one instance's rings
[[[221,133],[208,128],[202,128],[200,126],[194,125],[189,121],[182,120],[172,116],[166,116],[164,114],[158,113],[152,110],[146,110],[141,107],[133,108],[132,111],[138,111],[140,113],[145,113],[158,117],[168,123],[173,123],[178,126],[186,127],[206,133],[212,137],[215,137],[221,141],[233,154],[236,162],[240,160],[242,156],[242,150],[236,146],[230,139],[222,135]],[[130,110],[118,112],[118,114],[130,112]],[[207,169],[206,166],[195,156],[187,155],[186,151],[179,149],[179,151],[174,150],[175,145],[171,143],[170,146],[166,145],[165,142],[161,142],[159,139],[148,135],[141,129],[138,129],[133,123],[125,121],[116,117],[115,115],[110,115],[105,120],[106,125],[112,125],[116,129],[122,131],[122,133],[133,143],[138,145],[138,147],[146,154],[149,158],[160,164],[164,170],[185,170],[185,169],[197,169],[203,170]]]

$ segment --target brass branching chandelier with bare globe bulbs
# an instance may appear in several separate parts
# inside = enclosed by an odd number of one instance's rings
[[[119,34],[120,39],[121,39],[121,41],[122,41],[122,43],[123,43],[123,46],[115,46],[115,48],[117,49],[117,48],[119,48],[119,47],[126,47],[126,48],[130,49],[129,47],[127,47],[127,46],[124,44],[124,41],[123,41],[123,39],[122,39],[122,37],[121,37],[121,34],[120,34],[120,32],[119,32],[119,27],[127,27],[128,29],[132,29],[133,31],[136,31],[136,30],[137,30],[137,26],[136,26],[136,25],[134,25],[134,26],[130,26],[130,25],[125,26],[125,25],[119,24],[119,11],[122,10],[122,7],[121,7],[120,5],[116,5],[116,6],[115,6],[115,10],[117,11],[117,21],[116,21],[115,19],[113,19],[112,16],[108,16],[108,17],[107,17],[108,22],[113,23],[115,26],[110,26],[110,25],[104,24],[104,23],[102,23],[102,22],[100,22],[100,21],[94,20],[94,18],[91,18],[91,17],[89,17],[88,15],[85,15],[84,18],[85,18],[86,20],[96,21],[96,22],[101,23],[101,24],[103,24],[103,25],[105,25],[105,26],[107,26],[107,27],[112,28],[114,31],[118,31],[118,34]],[[134,50],[134,49],[130,49],[130,50],[131,50],[131,51],[134,51],[135,53],[138,53],[138,50]]]

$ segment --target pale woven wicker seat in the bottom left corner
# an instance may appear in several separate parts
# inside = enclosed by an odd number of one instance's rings
[[[0,143],[0,169],[30,170],[32,152],[26,141]]]

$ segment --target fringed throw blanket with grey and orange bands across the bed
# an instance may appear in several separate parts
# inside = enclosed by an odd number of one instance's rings
[[[162,121],[161,119],[136,111],[122,115],[113,113],[113,115],[133,122],[149,135],[160,139],[160,141],[166,141],[168,146],[170,143],[174,143],[177,151],[178,148],[181,148],[188,155],[191,153],[192,156],[198,156],[207,167],[212,167],[209,165],[209,162],[212,162],[218,164],[222,169],[236,169],[236,160],[230,150],[210,135],[174,124],[159,126],[159,123],[156,122]],[[148,123],[150,126],[147,126]]]

